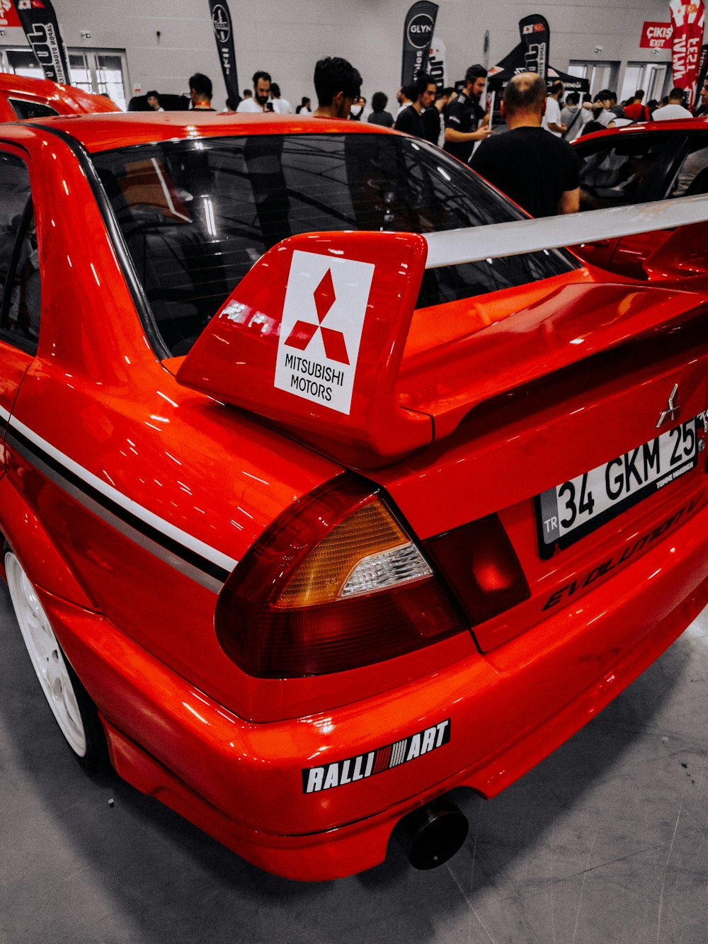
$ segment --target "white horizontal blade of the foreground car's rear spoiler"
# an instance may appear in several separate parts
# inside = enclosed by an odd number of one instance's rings
[[[708,220],[708,194],[682,196],[676,200],[632,204],[544,216],[535,220],[493,223],[488,227],[448,229],[425,233],[428,243],[427,269],[442,265],[460,265],[525,252],[558,249],[565,245],[595,243],[618,239],[653,229],[670,229]]]

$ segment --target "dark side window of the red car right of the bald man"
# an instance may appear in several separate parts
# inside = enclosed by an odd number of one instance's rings
[[[674,147],[669,135],[610,136],[579,148],[581,210],[599,210],[654,198],[652,188],[662,176]],[[662,194],[658,194],[656,198]]]

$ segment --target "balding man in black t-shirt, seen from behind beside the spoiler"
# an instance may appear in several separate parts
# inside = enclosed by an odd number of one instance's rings
[[[580,169],[573,148],[541,127],[546,83],[524,72],[504,91],[509,130],[480,144],[470,167],[531,216],[574,213],[580,208]]]

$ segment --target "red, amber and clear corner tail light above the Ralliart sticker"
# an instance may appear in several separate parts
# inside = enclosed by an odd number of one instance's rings
[[[341,672],[466,626],[379,491],[340,476],[263,533],[226,583],[216,634],[249,675]]]

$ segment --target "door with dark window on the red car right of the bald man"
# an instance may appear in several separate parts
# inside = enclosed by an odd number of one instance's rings
[[[680,166],[685,133],[607,132],[575,145],[581,163],[581,211],[661,200]],[[573,246],[585,261],[631,278],[647,278],[643,262],[670,230]]]

